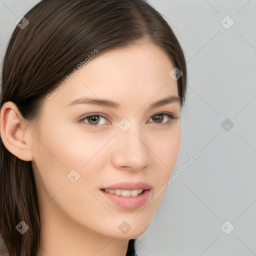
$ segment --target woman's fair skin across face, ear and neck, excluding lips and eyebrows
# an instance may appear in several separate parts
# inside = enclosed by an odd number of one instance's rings
[[[169,75],[173,67],[167,54],[152,43],[98,53],[51,100],[45,97],[36,133],[33,121],[18,128],[22,115],[13,102],[4,103],[4,145],[20,159],[32,161],[35,173],[41,216],[37,256],[125,255],[128,240],[146,230],[163,193],[154,202],[125,209],[100,188],[146,180],[152,195],[168,180],[180,147],[180,105],[176,101],[148,106],[178,96],[177,81]],[[66,107],[81,96],[114,100],[120,108]],[[176,119],[151,118],[162,111]],[[97,123],[90,118],[78,122],[91,113],[102,115],[98,127],[90,126]],[[117,125],[123,118],[131,123],[125,132]],[[80,174],[74,183],[66,176],[72,169]],[[118,228],[123,221],[131,227],[125,234]]]

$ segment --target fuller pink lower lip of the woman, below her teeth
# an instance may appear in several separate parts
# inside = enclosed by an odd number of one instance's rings
[[[144,190],[141,194],[137,196],[122,196],[117,194],[110,194],[104,190],[101,192],[108,198],[110,201],[114,202],[118,206],[126,209],[135,209],[143,204],[145,204],[146,200],[148,199],[150,190]]]

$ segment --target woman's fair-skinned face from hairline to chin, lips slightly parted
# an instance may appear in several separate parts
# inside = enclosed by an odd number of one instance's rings
[[[136,44],[96,55],[45,97],[30,145],[42,216],[51,207],[116,238],[146,230],[180,146],[179,101],[155,104],[178,96],[173,67],[158,46]]]

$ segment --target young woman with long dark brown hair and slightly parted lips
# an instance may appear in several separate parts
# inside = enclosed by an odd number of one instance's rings
[[[2,67],[6,255],[135,255],[178,156],[185,92],[180,44],[144,0],[29,10]]]

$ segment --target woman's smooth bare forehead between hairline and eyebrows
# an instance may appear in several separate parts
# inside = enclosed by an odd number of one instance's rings
[[[133,104],[177,95],[177,82],[169,75],[173,67],[167,54],[152,43],[98,53],[48,103],[64,107],[87,96]]]

